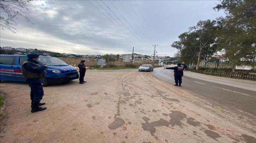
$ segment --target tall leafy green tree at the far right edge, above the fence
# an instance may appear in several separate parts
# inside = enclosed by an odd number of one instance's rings
[[[255,65],[256,59],[256,1],[222,0],[214,7],[224,10],[226,17],[218,18],[218,42],[225,52],[232,71],[235,65]]]

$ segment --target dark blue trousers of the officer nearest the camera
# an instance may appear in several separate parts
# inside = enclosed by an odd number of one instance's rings
[[[28,84],[31,91],[30,91],[30,99],[33,102],[34,105],[37,105],[40,103],[40,101],[43,99],[43,85],[42,83],[33,83]]]

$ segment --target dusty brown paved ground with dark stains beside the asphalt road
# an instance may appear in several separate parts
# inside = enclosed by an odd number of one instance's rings
[[[254,143],[256,119],[237,116],[137,70],[88,70],[45,87],[45,111],[31,113],[29,87],[2,82],[1,143]]]

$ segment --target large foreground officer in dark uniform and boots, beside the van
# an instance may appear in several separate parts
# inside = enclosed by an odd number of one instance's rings
[[[40,66],[38,64],[39,54],[31,53],[27,55],[28,61],[24,62],[22,67],[22,75],[26,78],[26,82],[28,83],[31,92],[31,112],[37,112],[45,110],[46,107],[39,107],[44,105],[45,103],[40,103],[43,98],[43,76],[45,75],[45,68],[47,65]]]

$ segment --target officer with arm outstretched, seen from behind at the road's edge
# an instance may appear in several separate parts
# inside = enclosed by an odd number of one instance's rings
[[[169,67],[169,68],[164,68],[167,69],[167,70],[174,70],[174,80],[175,80],[175,86],[179,86],[181,87],[181,83],[182,83],[182,76],[183,76],[183,70],[185,68],[187,68],[187,65],[185,65],[184,62],[182,62],[183,66],[181,66],[180,63],[177,63],[177,66],[175,67]],[[179,83],[179,85],[178,85]]]

